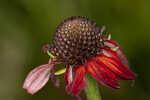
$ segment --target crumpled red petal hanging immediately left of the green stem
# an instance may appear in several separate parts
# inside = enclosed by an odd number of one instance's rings
[[[67,92],[73,93],[74,96],[78,97],[79,92],[86,86],[85,75],[86,75],[85,67],[77,66],[75,68],[74,80],[72,81],[72,83],[68,81],[68,83],[70,84],[67,85]]]

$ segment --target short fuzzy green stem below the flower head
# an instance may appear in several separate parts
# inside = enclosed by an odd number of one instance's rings
[[[99,92],[99,88],[96,80],[91,76],[86,76],[87,86],[85,87],[85,93],[88,100],[102,100]]]

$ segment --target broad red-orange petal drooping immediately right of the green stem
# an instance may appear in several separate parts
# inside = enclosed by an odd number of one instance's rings
[[[86,70],[93,78],[98,80],[106,87],[118,89],[119,83],[117,77],[112,73],[107,66],[96,59],[91,59],[86,65]]]

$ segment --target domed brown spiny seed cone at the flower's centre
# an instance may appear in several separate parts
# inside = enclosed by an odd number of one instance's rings
[[[57,27],[50,52],[58,61],[79,65],[96,56],[101,46],[96,23],[84,17],[71,17]]]

